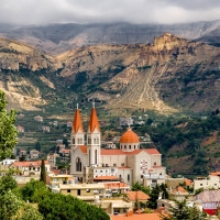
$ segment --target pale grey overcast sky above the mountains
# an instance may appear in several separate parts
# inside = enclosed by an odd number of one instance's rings
[[[0,0],[0,23],[188,23],[220,19],[220,0]]]

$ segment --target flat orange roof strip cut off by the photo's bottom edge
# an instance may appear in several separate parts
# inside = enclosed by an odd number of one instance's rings
[[[125,215],[121,216],[111,216],[111,220],[161,220],[160,213],[134,213],[127,217]]]

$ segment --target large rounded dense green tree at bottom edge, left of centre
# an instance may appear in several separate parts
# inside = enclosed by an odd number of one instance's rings
[[[50,193],[44,196],[44,199],[38,202],[38,211],[46,220],[110,220],[101,208],[62,194]]]

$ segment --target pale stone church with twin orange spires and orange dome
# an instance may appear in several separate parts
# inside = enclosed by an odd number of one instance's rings
[[[140,148],[139,136],[129,127],[119,148],[101,148],[101,130],[95,105],[85,132],[77,106],[70,133],[70,174],[80,183],[123,182],[153,187],[165,183],[162,154],[156,148]]]

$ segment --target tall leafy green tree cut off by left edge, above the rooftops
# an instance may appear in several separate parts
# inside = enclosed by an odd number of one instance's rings
[[[0,90],[0,160],[10,157],[18,142],[14,127],[16,111],[8,112],[7,103],[6,95]]]

